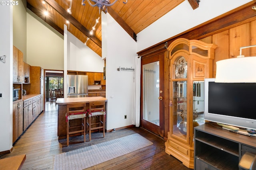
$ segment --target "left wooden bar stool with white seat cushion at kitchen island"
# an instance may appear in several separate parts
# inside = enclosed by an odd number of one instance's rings
[[[73,119],[82,119],[81,125],[70,126]],[[67,104],[66,123],[67,146],[69,146],[69,135],[75,133],[82,133],[84,135],[84,142],[86,141],[86,102]]]

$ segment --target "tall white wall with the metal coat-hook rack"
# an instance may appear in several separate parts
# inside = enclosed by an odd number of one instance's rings
[[[137,45],[108,13],[102,14],[102,22],[102,58],[106,57],[108,99],[106,124],[110,130],[132,125],[134,72],[117,71],[117,68],[134,68]]]

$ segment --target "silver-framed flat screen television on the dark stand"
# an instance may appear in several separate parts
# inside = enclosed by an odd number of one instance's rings
[[[204,119],[256,129],[256,83],[216,83],[204,80]]]

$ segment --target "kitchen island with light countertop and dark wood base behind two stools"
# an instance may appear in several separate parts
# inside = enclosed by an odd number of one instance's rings
[[[86,102],[86,109],[89,109],[89,102],[96,102],[96,101],[105,101],[107,102],[106,98],[103,97],[85,97],[85,98],[58,98],[56,100],[56,104],[58,104],[58,139],[66,139],[67,138],[67,131],[66,131],[66,111],[67,111],[67,104],[69,103],[79,103],[79,102]],[[106,110],[107,113],[107,110]],[[72,125],[71,125],[72,123]],[[72,120],[70,122],[70,126],[79,125],[81,124],[80,119]],[[81,134],[74,134],[81,135]],[[71,137],[72,135],[70,135]]]

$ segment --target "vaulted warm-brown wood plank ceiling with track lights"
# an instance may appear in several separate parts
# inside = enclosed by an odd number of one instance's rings
[[[126,32],[136,41],[136,34],[158,20],[164,14],[170,12],[184,0],[118,0],[114,5],[108,7],[108,13],[126,30]],[[27,8],[34,14],[42,18],[46,23],[64,34],[64,24],[68,26],[68,31],[83,43],[87,37],[90,39],[86,45],[99,56],[102,56],[102,35],[101,19],[96,24],[93,35],[90,35],[92,27],[101,15],[98,7],[92,7],[85,0],[27,0]],[[95,4],[90,0],[92,4]],[[111,0],[114,2],[114,0]],[[198,0],[188,0],[193,9],[198,8]],[[70,8],[71,14],[67,12]],[[44,15],[48,11],[48,16]],[[69,21],[69,24],[66,23]]]

